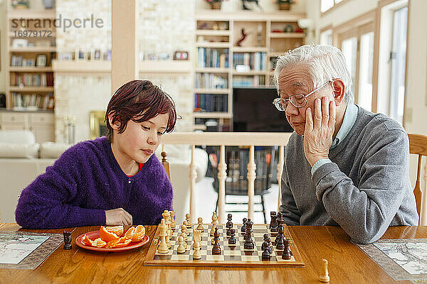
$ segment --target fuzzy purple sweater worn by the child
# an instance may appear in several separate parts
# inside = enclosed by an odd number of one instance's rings
[[[21,192],[16,222],[30,229],[105,225],[105,210],[122,207],[133,224],[157,225],[172,210],[172,185],[152,155],[127,177],[105,137],[69,148]]]

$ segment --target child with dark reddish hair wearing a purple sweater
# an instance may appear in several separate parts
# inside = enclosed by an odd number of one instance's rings
[[[147,80],[127,82],[110,99],[105,121],[106,137],[70,147],[22,191],[19,225],[157,225],[163,210],[172,210],[171,182],[153,155],[175,126],[172,98]]]

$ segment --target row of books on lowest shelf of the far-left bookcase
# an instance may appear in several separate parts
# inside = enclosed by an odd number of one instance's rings
[[[54,104],[53,93],[20,94],[12,92],[12,105],[14,109],[53,109]]]

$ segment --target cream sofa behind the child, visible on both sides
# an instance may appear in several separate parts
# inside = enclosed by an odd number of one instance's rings
[[[68,147],[70,145],[65,143],[36,143],[34,133],[29,130],[0,131],[0,222],[15,222],[14,212],[23,188],[44,173],[48,165],[53,165]],[[167,152],[174,188],[175,217],[182,220],[189,213],[191,151],[184,145],[165,145],[164,151]],[[159,160],[161,152],[162,146],[159,146],[156,151]],[[199,182],[206,175],[206,151],[196,148],[194,163],[196,182]]]

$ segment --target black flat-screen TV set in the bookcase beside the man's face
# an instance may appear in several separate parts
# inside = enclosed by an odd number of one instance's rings
[[[278,111],[274,88],[233,88],[233,131],[292,132],[285,112]]]

